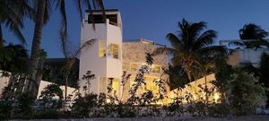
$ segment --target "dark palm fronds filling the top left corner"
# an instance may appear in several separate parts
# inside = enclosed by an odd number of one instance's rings
[[[0,0],[0,48],[4,47],[3,25],[26,44],[22,35],[23,19],[33,18],[34,10],[30,7],[28,0]]]

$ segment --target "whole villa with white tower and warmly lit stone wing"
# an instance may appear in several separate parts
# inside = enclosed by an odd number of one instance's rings
[[[121,16],[117,10],[106,10],[106,21],[103,21],[100,11],[93,11],[93,19],[90,16],[90,13],[86,13],[85,21],[82,23],[81,43],[83,45],[91,39],[96,39],[96,42],[80,56],[80,78],[87,71],[91,71],[96,78],[91,81],[88,93],[107,93],[108,83],[112,82],[112,88],[117,95],[126,99],[138,69],[141,65],[145,65],[145,53],[152,53],[155,48],[162,45],[144,39],[123,42]],[[94,25],[90,19],[94,21]],[[164,55],[153,58],[151,73],[144,77],[147,83],[144,89],[157,92],[153,80],[161,77],[162,68],[169,65],[169,58]],[[125,87],[122,87],[120,82],[123,72],[131,74],[130,81]],[[168,79],[167,75],[163,75],[163,78],[166,81]],[[83,91],[83,87],[87,85],[87,81],[81,81],[80,90]]]

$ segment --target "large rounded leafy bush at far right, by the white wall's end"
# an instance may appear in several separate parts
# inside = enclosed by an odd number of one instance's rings
[[[253,74],[240,69],[232,75],[226,93],[233,115],[254,114],[256,108],[265,106],[265,88]]]

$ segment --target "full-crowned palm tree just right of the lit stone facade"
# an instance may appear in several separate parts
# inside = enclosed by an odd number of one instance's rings
[[[178,22],[178,37],[169,33],[167,39],[171,48],[157,48],[153,55],[166,53],[172,57],[172,65],[181,65],[187,73],[189,81],[194,80],[195,70],[204,64],[203,59],[212,59],[215,56],[226,56],[227,50],[223,46],[212,46],[216,38],[216,31],[205,30],[205,22],[187,22],[185,19]]]

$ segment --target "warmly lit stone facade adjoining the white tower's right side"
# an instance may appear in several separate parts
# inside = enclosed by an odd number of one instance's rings
[[[136,73],[142,65],[146,65],[146,53],[152,53],[155,48],[163,47],[162,45],[156,44],[152,41],[145,39],[129,39],[125,40],[123,43],[123,71],[130,73],[131,77],[128,82],[126,82],[123,88],[123,100],[128,99],[128,91],[132,88],[134,84],[134,79]],[[159,80],[162,78],[166,82],[166,89],[169,92],[168,79],[169,76],[163,73],[163,69],[168,69],[169,57],[165,54],[161,54],[153,57],[153,65],[151,66],[150,73],[144,75],[144,82],[142,89],[139,89],[137,94],[142,94],[147,90],[153,91],[155,96],[158,96],[159,87],[156,85],[154,80]]]

